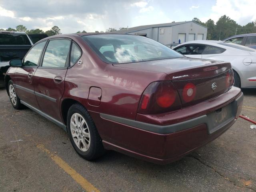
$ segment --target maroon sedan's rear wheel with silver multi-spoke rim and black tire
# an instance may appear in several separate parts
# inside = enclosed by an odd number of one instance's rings
[[[96,126],[81,104],[73,104],[67,116],[68,135],[76,152],[86,160],[94,160],[104,153]]]

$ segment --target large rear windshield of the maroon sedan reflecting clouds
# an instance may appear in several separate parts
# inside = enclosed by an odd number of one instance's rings
[[[136,35],[98,34],[82,38],[104,62],[111,64],[184,57],[159,42]]]

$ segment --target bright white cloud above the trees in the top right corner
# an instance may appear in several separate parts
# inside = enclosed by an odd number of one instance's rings
[[[223,16],[229,16],[238,24],[244,25],[256,20],[256,0],[217,0],[212,6],[212,13],[208,17],[200,18],[203,22],[208,19],[217,22]]]

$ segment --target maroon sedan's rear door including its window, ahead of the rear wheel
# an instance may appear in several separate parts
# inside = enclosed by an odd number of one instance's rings
[[[48,40],[40,66],[34,74],[35,94],[42,112],[59,121],[70,46],[71,40],[67,38]]]

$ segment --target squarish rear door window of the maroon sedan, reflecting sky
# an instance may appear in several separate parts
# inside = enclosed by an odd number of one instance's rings
[[[42,67],[65,67],[70,43],[71,41],[66,39],[50,40],[44,54]]]

